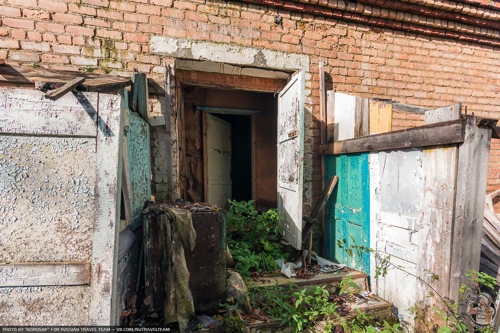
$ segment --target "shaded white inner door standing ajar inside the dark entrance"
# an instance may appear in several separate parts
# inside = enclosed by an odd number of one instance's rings
[[[231,124],[206,113],[206,198],[227,208],[231,199]]]

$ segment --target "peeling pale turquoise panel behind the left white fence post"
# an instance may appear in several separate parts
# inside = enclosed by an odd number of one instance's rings
[[[126,138],[130,172],[130,207],[135,225],[140,221],[144,203],[151,200],[149,124],[136,112],[130,112],[128,128]]]

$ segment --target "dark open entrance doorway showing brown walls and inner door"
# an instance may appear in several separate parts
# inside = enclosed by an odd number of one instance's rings
[[[277,98],[273,93],[182,88],[187,200],[277,207]]]

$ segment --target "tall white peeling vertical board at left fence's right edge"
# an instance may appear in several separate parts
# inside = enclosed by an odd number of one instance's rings
[[[97,132],[96,223],[92,236],[88,325],[115,325],[115,288],[121,191],[123,99],[99,94]]]

